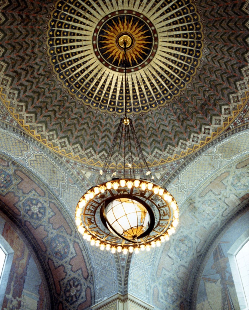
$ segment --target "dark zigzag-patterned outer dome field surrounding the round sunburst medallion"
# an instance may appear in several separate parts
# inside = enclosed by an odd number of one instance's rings
[[[135,10],[138,2],[130,3]],[[176,100],[146,113],[146,117],[142,114],[134,119],[149,166],[162,166],[197,151],[244,113],[249,96],[246,4],[239,1],[231,7],[224,3],[221,10],[220,2],[215,3],[199,0],[196,4],[204,25],[204,49],[192,82]],[[54,7],[38,1],[33,1],[31,7],[25,4],[23,7],[24,14],[34,11],[36,15],[39,11],[39,18],[27,21],[32,23],[29,28],[20,25],[15,4],[5,11],[2,36],[11,39],[2,39],[5,48],[0,62],[2,102],[15,122],[43,145],[88,167],[101,167],[118,118],[80,105],[51,72],[44,33],[50,18],[48,11]],[[118,9],[115,1],[110,2],[111,7],[112,11]],[[234,12],[239,12],[239,18],[233,18],[237,16]],[[27,69],[29,63],[31,71]]]

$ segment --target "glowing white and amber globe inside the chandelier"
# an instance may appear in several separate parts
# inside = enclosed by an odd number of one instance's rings
[[[149,213],[141,203],[133,199],[118,198],[111,201],[105,214],[109,222],[107,226],[110,225],[108,228],[129,240],[136,240],[148,229]]]

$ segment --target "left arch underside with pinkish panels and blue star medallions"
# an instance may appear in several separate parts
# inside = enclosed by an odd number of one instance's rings
[[[53,309],[94,304],[88,249],[53,194],[13,159],[0,159],[1,210],[27,237],[42,264]]]

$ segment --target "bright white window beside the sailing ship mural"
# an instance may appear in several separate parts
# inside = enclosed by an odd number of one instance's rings
[[[240,310],[249,310],[249,229],[227,252]]]

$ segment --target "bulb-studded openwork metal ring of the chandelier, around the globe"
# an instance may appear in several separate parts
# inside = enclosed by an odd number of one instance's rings
[[[155,212],[155,226],[150,234],[138,239],[134,244],[121,239],[107,230],[100,219],[101,206],[110,197],[120,195],[139,197],[150,204]],[[127,197],[128,197],[127,196]],[[178,224],[179,209],[174,197],[164,188],[147,180],[114,179],[90,188],[76,206],[75,220],[78,231],[92,246],[100,250],[111,250],[112,253],[138,253],[149,251],[151,247],[160,246],[168,241]]]

